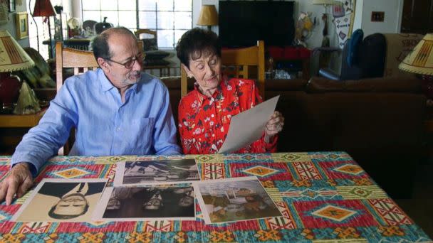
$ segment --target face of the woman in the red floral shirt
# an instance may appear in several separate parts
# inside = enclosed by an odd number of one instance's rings
[[[182,66],[195,78],[203,95],[212,95],[221,82],[221,59],[216,53],[202,52],[195,60],[189,58],[189,68]]]

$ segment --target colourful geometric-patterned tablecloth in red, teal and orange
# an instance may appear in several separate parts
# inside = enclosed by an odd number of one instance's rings
[[[187,156],[192,158],[193,156]],[[42,178],[109,178],[115,163],[179,156],[59,156]],[[283,217],[197,221],[10,222],[24,198],[0,205],[0,242],[432,242],[344,152],[196,156],[202,180],[256,175]],[[10,157],[0,157],[0,178]],[[27,194],[28,195],[28,194]]]

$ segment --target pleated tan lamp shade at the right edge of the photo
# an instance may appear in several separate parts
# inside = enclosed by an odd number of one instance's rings
[[[427,33],[398,68],[421,75],[433,75],[433,33]]]

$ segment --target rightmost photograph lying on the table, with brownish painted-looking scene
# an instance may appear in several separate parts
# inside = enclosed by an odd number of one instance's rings
[[[207,225],[282,216],[255,176],[204,180],[193,185]]]

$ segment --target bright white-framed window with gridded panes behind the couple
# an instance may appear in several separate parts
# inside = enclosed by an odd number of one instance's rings
[[[172,49],[192,28],[192,0],[92,0],[82,1],[83,21],[107,22],[131,31],[157,31],[158,48]]]

